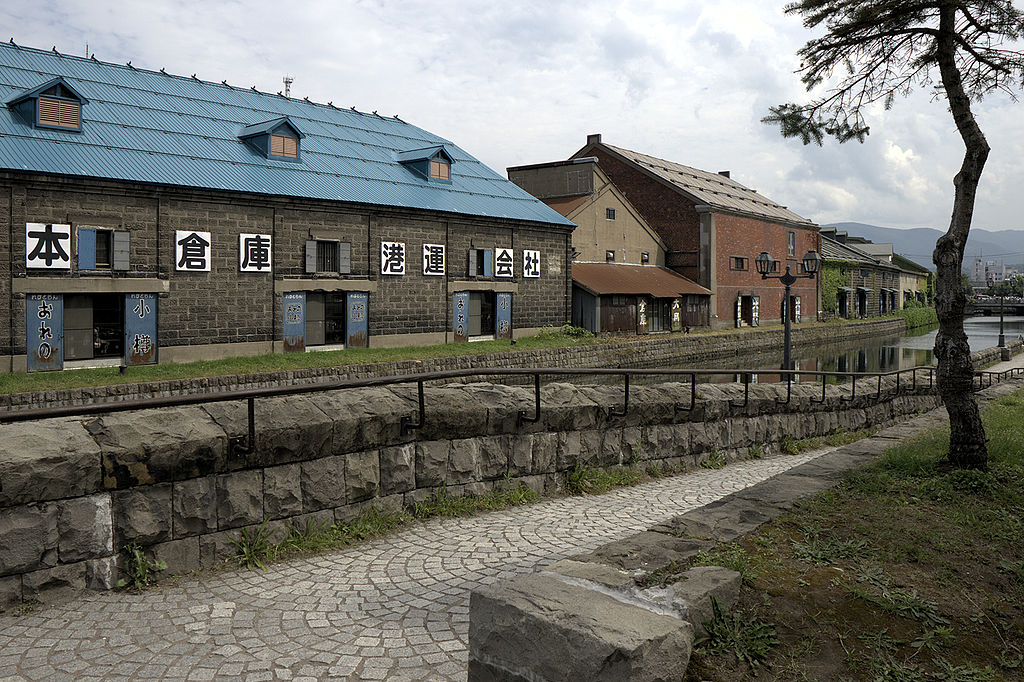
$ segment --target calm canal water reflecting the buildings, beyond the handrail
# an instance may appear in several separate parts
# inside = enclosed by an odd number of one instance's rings
[[[978,316],[964,321],[971,350],[977,351],[998,344],[999,317]],[[805,372],[888,372],[911,367],[927,367],[935,363],[932,348],[938,327],[911,330],[905,335],[892,335],[857,339],[847,343],[815,346],[797,346],[793,359]],[[1007,341],[1024,336],[1024,316],[1005,316],[1004,334]],[[681,364],[684,369],[710,368],[772,370],[782,365],[781,348],[764,348],[758,353],[748,353],[722,358],[713,363]]]

